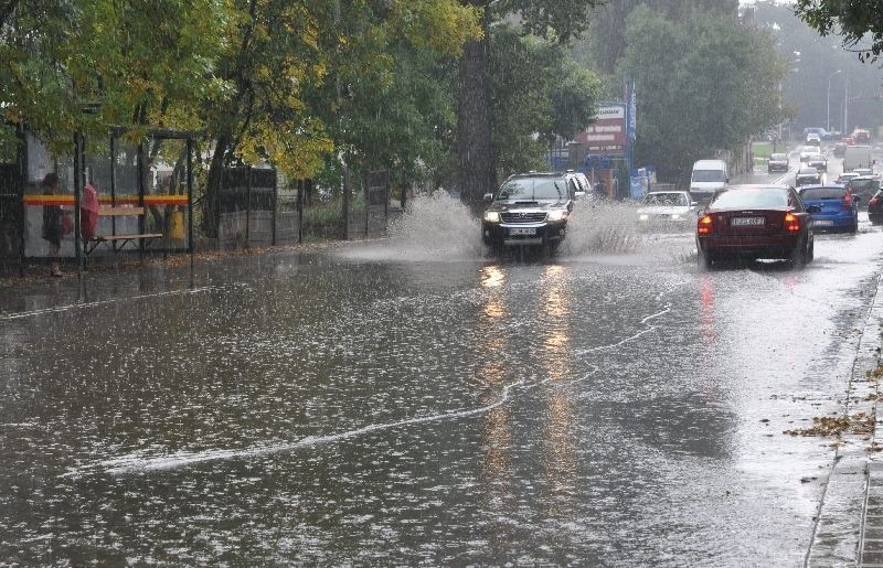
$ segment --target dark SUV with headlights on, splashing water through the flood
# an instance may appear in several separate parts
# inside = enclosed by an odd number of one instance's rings
[[[573,172],[510,175],[497,193],[485,195],[482,239],[494,249],[535,245],[552,251],[564,240],[574,201],[583,195]]]

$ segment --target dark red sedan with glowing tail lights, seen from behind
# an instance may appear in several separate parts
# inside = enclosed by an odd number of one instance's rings
[[[721,259],[812,260],[810,213],[788,185],[734,185],[720,193],[696,222],[696,254],[705,268]]]

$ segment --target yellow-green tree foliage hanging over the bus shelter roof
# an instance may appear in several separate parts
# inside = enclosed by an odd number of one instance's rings
[[[107,125],[198,126],[223,12],[213,0],[8,2],[0,15],[3,116],[56,152]],[[94,112],[84,112],[88,108]],[[136,135],[137,136],[137,132]]]

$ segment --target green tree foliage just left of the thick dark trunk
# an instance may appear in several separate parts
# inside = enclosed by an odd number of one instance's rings
[[[481,33],[478,13],[456,0],[400,1],[391,11],[370,6],[322,36],[334,57],[333,81],[310,100],[340,150],[326,154],[323,169],[339,172],[330,176],[338,185],[350,170],[361,176],[366,169],[394,169],[402,174],[396,182],[418,170],[444,175],[455,116],[453,62],[466,39]],[[333,47],[341,36],[345,45]]]

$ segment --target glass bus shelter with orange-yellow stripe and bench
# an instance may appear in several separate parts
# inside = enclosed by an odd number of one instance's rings
[[[115,129],[106,140],[76,135],[73,156],[53,156],[36,135],[20,130],[22,268],[29,259],[49,259],[49,242],[42,238],[46,206],[71,214],[73,227],[58,257],[75,260],[78,270],[87,257],[136,251],[192,256],[195,136],[153,129],[130,142],[124,130]],[[46,194],[42,182],[51,172],[57,175],[58,190]],[[97,193],[102,212],[94,235],[82,231],[84,190]]]

